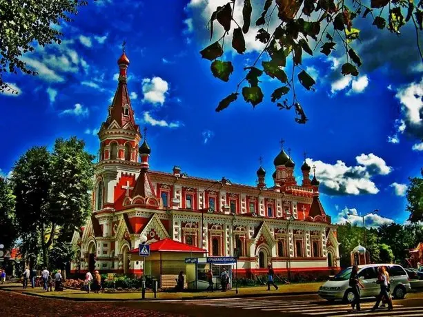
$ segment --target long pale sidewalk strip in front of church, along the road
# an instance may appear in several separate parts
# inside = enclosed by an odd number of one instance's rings
[[[146,292],[146,300],[184,300],[184,299],[199,299],[199,298],[233,298],[233,297],[259,297],[259,296],[288,296],[288,295],[304,295],[316,294],[317,290],[323,283],[298,283],[290,285],[278,285],[279,289],[276,291],[273,287],[268,291],[267,286],[259,287],[239,287],[238,294],[235,294],[235,288],[227,292],[179,292],[168,293],[158,292],[157,298],[154,298],[153,292]],[[28,294],[33,296],[42,296],[48,298],[61,298],[68,300],[140,300],[141,292],[133,293],[90,293],[75,289],[65,289],[63,292],[45,292],[41,287],[35,289],[22,289],[20,284],[4,284],[0,285],[0,290],[10,292],[19,292],[21,294]]]

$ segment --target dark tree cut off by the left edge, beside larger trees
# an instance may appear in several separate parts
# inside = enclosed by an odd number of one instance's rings
[[[0,244],[5,249],[11,249],[17,239],[14,198],[10,184],[0,176]]]

